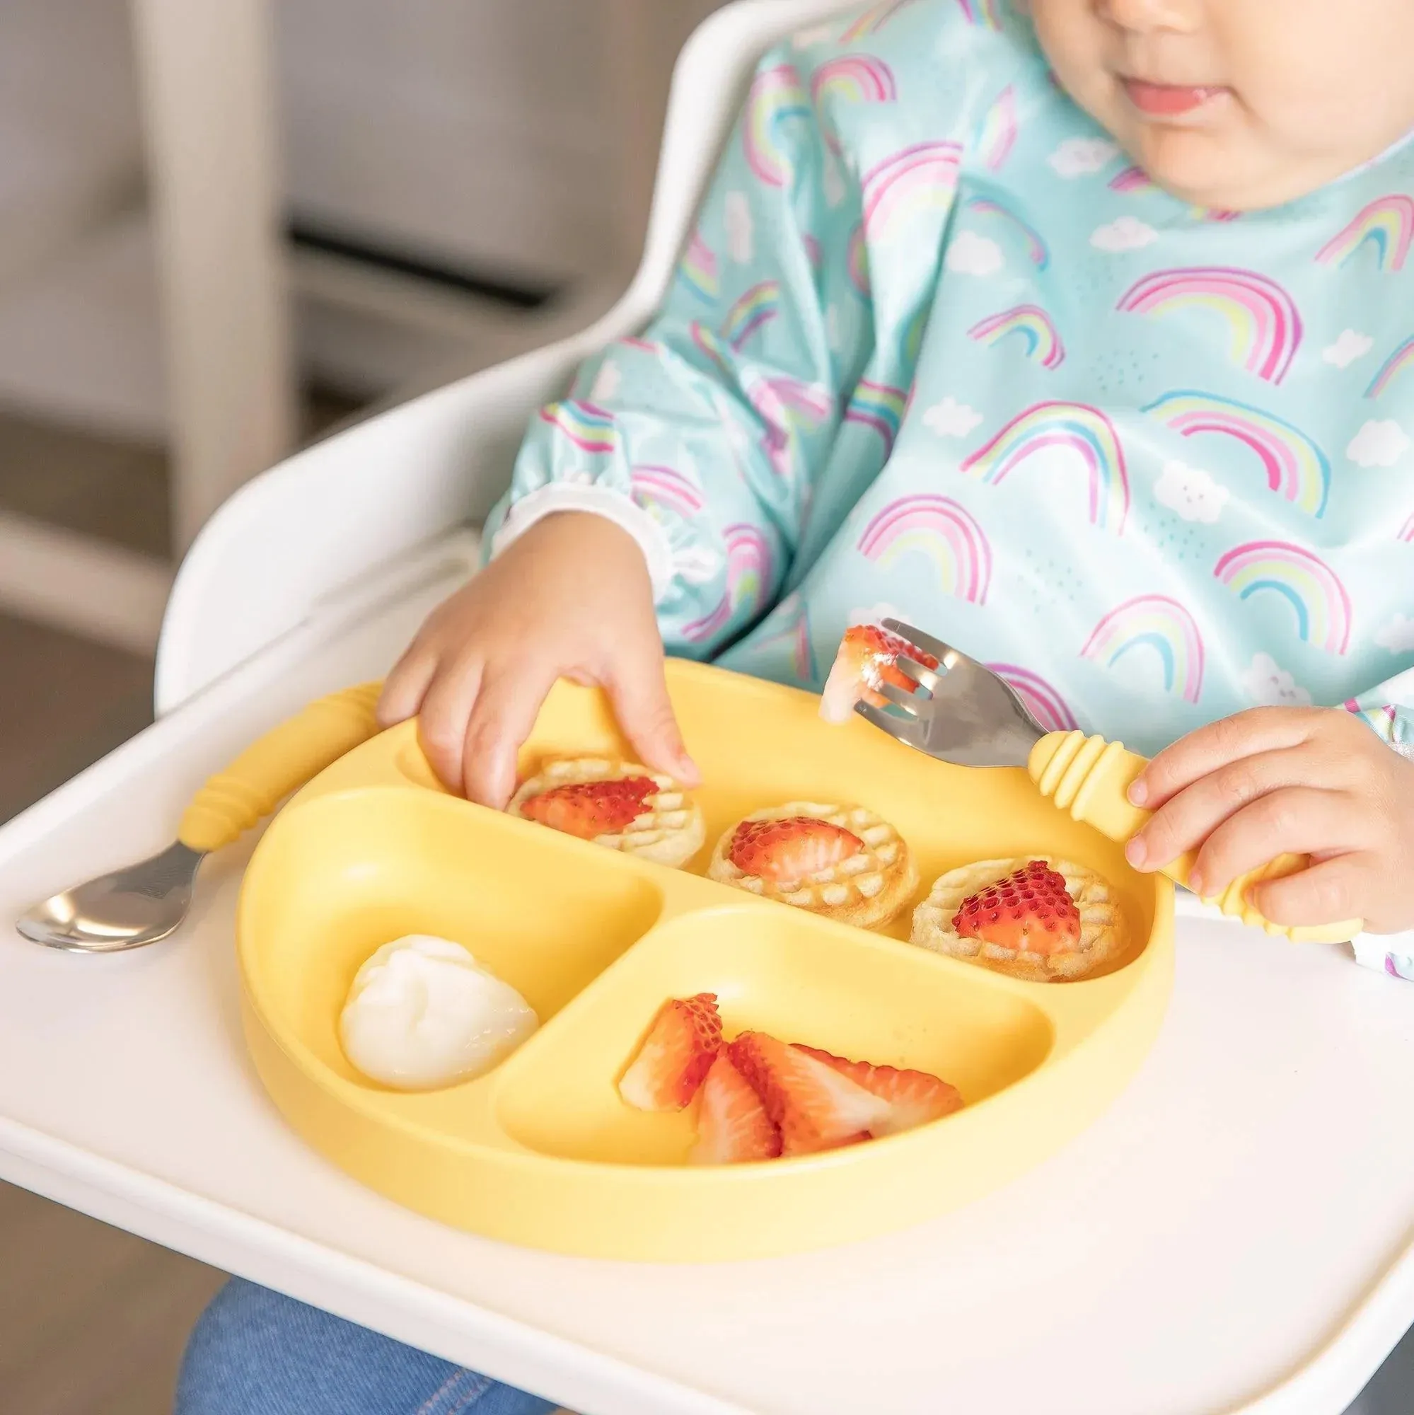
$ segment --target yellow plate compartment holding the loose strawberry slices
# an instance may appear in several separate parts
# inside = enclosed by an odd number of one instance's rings
[[[768,1032],[929,1071],[969,1105],[1036,1070],[1052,1043],[1046,1013],[991,974],[785,907],[711,908],[656,930],[503,1064],[501,1124],[560,1159],[686,1163],[696,1102],[676,1114],[635,1111],[618,1080],[665,999],[697,992],[717,993],[727,1037]]]

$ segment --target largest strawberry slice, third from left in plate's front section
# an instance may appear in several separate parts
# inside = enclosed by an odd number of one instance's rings
[[[888,1119],[887,1101],[764,1032],[742,1032],[727,1050],[766,1115],[781,1126],[782,1155],[853,1145]]]

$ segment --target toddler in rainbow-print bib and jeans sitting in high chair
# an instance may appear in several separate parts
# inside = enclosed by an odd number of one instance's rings
[[[896,0],[775,48],[383,720],[502,807],[568,676],[691,782],[665,647],[817,689],[894,613],[1157,753],[1135,867],[1308,852],[1268,917],[1414,927],[1411,72],[1407,0]],[[271,1365],[312,1326],[267,1317]],[[409,1411],[543,1408],[416,1360]]]

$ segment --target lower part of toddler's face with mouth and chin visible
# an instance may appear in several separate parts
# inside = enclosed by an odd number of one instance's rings
[[[1031,0],[1070,96],[1203,207],[1305,195],[1414,127],[1414,0]]]

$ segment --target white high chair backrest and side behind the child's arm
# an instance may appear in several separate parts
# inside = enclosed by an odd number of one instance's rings
[[[848,7],[740,0],[693,35],[673,76],[643,262],[594,327],[339,433],[255,478],[216,512],[167,606],[160,713],[294,628],[321,600],[485,518],[534,409],[588,354],[641,328],[662,300],[761,51]]]

